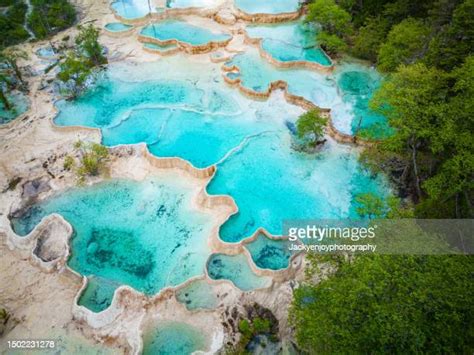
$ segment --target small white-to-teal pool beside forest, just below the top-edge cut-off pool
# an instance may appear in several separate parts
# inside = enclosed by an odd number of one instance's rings
[[[306,60],[321,65],[331,65],[331,60],[319,47],[315,26],[303,21],[277,25],[248,26],[250,38],[262,38],[262,47],[281,62]]]

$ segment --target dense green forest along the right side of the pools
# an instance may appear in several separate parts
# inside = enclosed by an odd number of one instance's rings
[[[389,203],[357,196],[364,217],[472,218],[474,0],[314,0],[333,56],[385,73],[370,107],[394,132],[362,162],[388,174]],[[309,353],[472,353],[472,256],[364,255],[295,291],[290,319]],[[310,257],[311,270],[326,258]],[[310,271],[311,271],[310,270]],[[311,274],[311,272],[310,272]],[[311,275],[309,275],[311,276]]]

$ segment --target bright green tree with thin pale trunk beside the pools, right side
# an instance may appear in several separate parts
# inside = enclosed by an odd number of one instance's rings
[[[421,180],[425,173],[420,160],[426,163],[430,141],[439,133],[447,79],[445,73],[424,64],[402,66],[370,102],[370,107],[385,115],[395,129],[380,148],[401,162],[405,181],[414,188],[417,200],[423,195]]]

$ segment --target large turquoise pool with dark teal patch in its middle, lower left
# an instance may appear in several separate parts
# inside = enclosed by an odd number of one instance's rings
[[[68,265],[95,276],[80,304],[101,311],[117,285],[154,295],[204,273],[212,218],[191,207],[186,185],[167,177],[74,188],[34,205],[12,226],[26,235],[53,212],[70,222],[75,235]]]

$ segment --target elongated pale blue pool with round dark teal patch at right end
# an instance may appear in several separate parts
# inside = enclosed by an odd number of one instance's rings
[[[256,92],[265,92],[271,82],[284,80],[292,94],[302,96],[320,107],[331,109],[334,126],[354,134],[362,118],[362,128],[378,125],[378,136],[390,134],[385,117],[375,114],[368,102],[381,83],[378,72],[361,63],[338,66],[333,75],[305,69],[278,69],[250,49],[236,55],[228,65],[240,68],[241,82]]]

